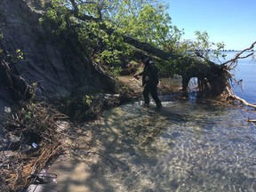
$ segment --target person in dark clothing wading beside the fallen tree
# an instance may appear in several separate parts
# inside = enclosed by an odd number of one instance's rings
[[[139,76],[142,76],[142,86],[144,86],[143,96],[144,102],[149,105],[149,93],[151,94],[153,100],[156,102],[156,107],[161,108],[162,103],[159,100],[157,95],[157,84],[158,84],[158,70],[152,60],[147,56],[141,57],[141,62],[144,64],[143,71],[140,74],[135,75],[134,77],[139,79]]]

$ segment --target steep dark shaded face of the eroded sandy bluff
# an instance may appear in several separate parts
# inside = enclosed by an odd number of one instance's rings
[[[74,31],[60,45],[51,26],[39,24],[44,11],[35,2],[3,0],[0,4],[1,112],[5,106],[28,99],[28,88],[46,100],[73,92],[114,92],[115,81],[89,55],[82,54]]]

